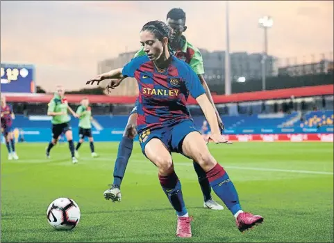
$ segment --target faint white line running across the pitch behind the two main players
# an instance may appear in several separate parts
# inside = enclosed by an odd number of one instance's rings
[[[16,163],[24,163],[24,162],[35,162],[35,163],[42,163],[42,162],[56,162],[58,159],[54,159],[54,160],[42,160],[42,159],[19,159],[18,161],[12,161],[12,162],[16,162]],[[83,161],[109,161],[109,162],[114,162],[113,159],[109,159],[109,158],[79,158],[78,162],[80,163],[80,160]],[[149,160],[144,160],[144,159],[133,159],[133,161],[135,163],[151,163],[149,162]],[[11,163],[12,163],[11,162]],[[61,161],[60,161],[61,162]],[[70,162],[70,159],[69,159]],[[192,166],[192,163],[190,162],[178,162],[176,163],[176,165],[180,165],[180,166]],[[315,175],[334,175],[333,172],[329,172],[329,171],[299,171],[299,170],[287,170],[287,169],[281,169],[281,168],[259,168],[259,167],[244,167],[244,166],[224,166],[224,168],[231,168],[231,169],[236,169],[236,170],[247,170],[247,171],[273,171],[273,172],[287,172],[287,173],[304,173],[304,174],[315,174]]]

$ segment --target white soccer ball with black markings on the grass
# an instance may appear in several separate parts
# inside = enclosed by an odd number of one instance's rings
[[[47,220],[56,230],[72,230],[78,225],[80,216],[80,208],[69,198],[58,198],[47,208]]]

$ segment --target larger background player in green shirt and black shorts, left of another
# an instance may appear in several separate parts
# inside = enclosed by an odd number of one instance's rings
[[[71,152],[72,162],[77,163],[78,159],[74,157],[72,128],[69,125],[69,120],[71,120],[71,118],[67,111],[70,111],[76,118],[78,118],[78,115],[76,115],[71,107],[69,107],[65,98],[65,89],[63,86],[57,86],[57,91],[48,105],[49,108],[47,110],[47,115],[52,116],[52,140],[47,147],[47,157],[50,157],[51,148],[53,148],[53,146],[55,146],[58,142],[60,134],[65,133],[66,139],[69,143],[69,151]]]

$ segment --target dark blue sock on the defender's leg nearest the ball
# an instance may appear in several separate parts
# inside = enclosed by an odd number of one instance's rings
[[[114,182],[112,183],[115,187],[120,188],[126,166],[128,165],[128,159],[130,159],[133,150],[133,139],[129,139],[123,136],[122,141],[119,143],[117,159],[114,168]]]

